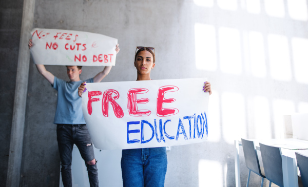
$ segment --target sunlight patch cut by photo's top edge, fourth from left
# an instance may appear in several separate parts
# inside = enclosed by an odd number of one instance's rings
[[[264,0],[265,12],[273,17],[284,17],[285,9],[283,0]]]

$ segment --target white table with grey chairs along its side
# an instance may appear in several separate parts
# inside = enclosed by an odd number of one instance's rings
[[[308,156],[308,150],[290,150],[285,148],[308,148],[308,141],[299,140],[294,138],[288,139],[250,139],[255,142],[257,149],[259,148],[259,142],[267,144],[269,146],[275,146],[281,148],[282,159],[282,172],[283,172],[283,185],[285,187],[294,186],[298,187],[298,170],[295,152],[302,153]],[[239,140],[234,141],[235,146],[235,183],[236,186],[241,186],[240,176],[240,158],[239,147],[242,146],[242,142]],[[260,149],[259,149],[260,150]]]

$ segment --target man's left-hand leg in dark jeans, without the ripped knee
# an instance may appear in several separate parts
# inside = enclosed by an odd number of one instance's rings
[[[73,141],[71,134],[70,124],[57,124],[56,136],[59,147],[59,153],[61,158],[61,175],[64,187],[72,186],[72,150]]]

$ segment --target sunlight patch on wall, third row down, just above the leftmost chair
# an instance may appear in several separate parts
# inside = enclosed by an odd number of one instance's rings
[[[268,99],[262,96],[255,96],[253,98],[253,106],[255,138],[272,138]]]

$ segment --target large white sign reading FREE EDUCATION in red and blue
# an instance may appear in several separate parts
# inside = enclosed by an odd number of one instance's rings
[[[82,110],[98,149],[136,149],[207,139],[206,78],[87,83]]]

